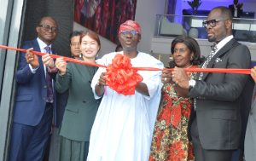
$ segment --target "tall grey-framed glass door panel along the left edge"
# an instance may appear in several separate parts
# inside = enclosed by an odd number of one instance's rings
[[[17,48],[23,0],[0,0],[0,45]],[[11,107],[15,91],[16,51],[0,49],[0,160],[7,160]]]

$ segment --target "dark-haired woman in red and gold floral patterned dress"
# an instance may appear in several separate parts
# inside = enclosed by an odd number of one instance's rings
[[[170,67],[194,68],[202,62],[199,45],[191,37],[176,37],[171,50],[174,61],[170,62]],[[194,155],[188,126],[193,100],[178,96],[181,94],[177,93],[177,86],[165,78],[166,74],[171,72],[164,70],[162,74],[165,84],[154,124],[149,161],[191,161]],[[195,72],[188,74],[190,78],[195,78]]]

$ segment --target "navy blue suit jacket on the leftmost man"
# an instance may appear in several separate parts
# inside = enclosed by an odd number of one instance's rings
[[[24,43],[23,49],[30,48],[40,52],[37,39]],[[44,114],[47,85],[41,56],[38,56],[38,70],[33,74],[26,63],[25,55],[25,53],[20,53],[19,66],[15,74],[17,90],[14,122],[35,126]]]

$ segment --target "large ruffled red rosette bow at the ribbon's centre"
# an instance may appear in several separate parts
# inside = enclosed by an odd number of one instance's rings
[[[122,95],[134,95],[137,83],[143,81],[141,75],[131,66],[131,59],[125,55],[115,55],[107,67],[106,83],[109,88]]]

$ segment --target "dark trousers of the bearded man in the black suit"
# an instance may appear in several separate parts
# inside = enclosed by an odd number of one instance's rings
[[[233,150],[207,150],[201,146],[196,118],[191,124],[195,161],[231,161]]]

